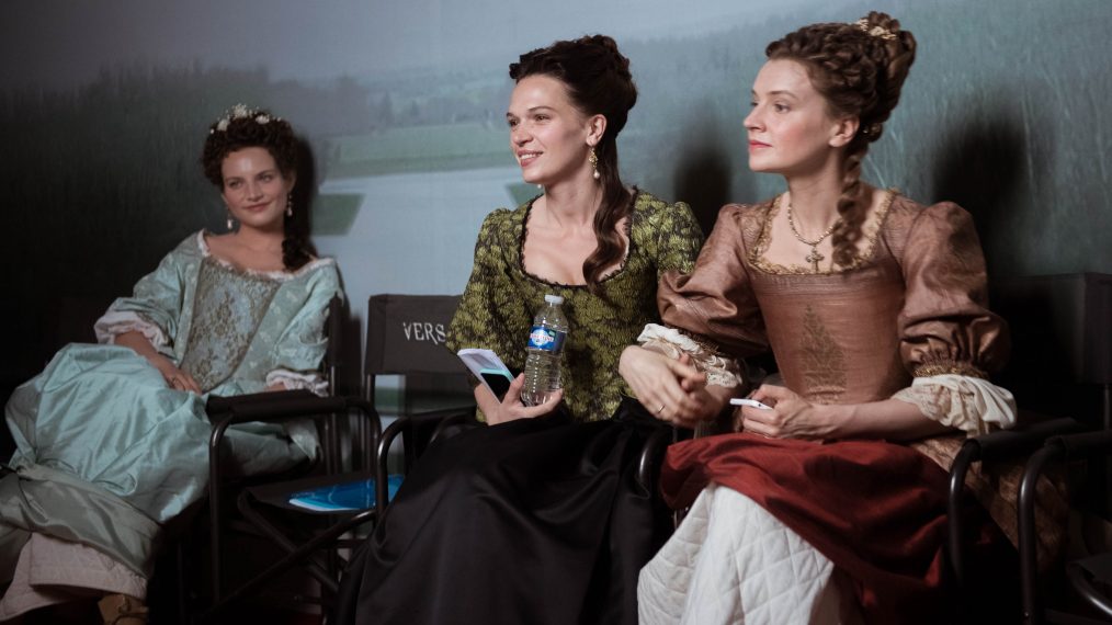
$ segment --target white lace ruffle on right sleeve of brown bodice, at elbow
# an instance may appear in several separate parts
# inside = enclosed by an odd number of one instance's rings
[[[892,398],[912,404],[927,418],[969,436],[1015,426],[1015,397],[1006,388],[977,377],[917,377]]]

